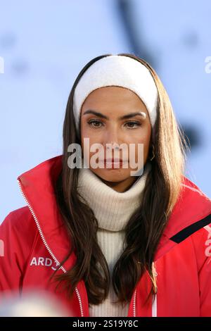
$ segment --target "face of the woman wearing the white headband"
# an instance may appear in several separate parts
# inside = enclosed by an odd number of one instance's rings
[[[90,111],[97,112],[98,115]],[[140,113],[140,115],[122,118],[124,115],[129,115],[129,113]],[[139,96],[124,87],[111,86],[95,89],[87,96],[82,106],[80,130],[82,153],[84,156],[84,151],[86,151],[86,155],[89,155],[90,170],[101,177],[103,181],[110,182],[110,186],[114,187],[117,182],[125,182],[126,187],[132,185],[137,177],[131,176],[131,172],[134,173],[142,167],[132,168],[130,161],[133,158],[134,162],[139,162],[138,144],[143,144],[143,160],[141,160],[141,163],[145,164],[151,142],[151,122],[146,106],[139,99]],[[89,138],[89,144],[84,144],[84,138]],[[90,151],[92,144],[101,144],[102,146],[104,157],[101,166],[103,168],[91,167],[91,157],[98,152],[98,150]],[[112,149],[108,149],[108,144],[115,145]],[[127,146],[128,157],[127,154],[123,154],[121,148],[119,149],[119,155],[114,154],[114,146],[120,146],[121,144]],[[129,146],[132,146],[130,144],[134,146],[134,152],[131,155],[129,155]],[[110,151],[110,154],[107,154],[108,156],[106,155],[106,147]],[[117,168],[114,168],[113,164],[104,163],[104,158],[118,158],[118,156],[126,160],[124,162],[125,168],[122,168],[123,163],[119,163]],[[98,161],[97,159],[96,163]],[[125,165],[127,165],[127,168]]]

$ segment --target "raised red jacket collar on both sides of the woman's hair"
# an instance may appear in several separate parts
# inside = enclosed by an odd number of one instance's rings
[[[40,235],[59,262],[63,261],[70,251],[68,232],[58,211],[53,187],[61,167],[62,155],[59,155],[39,163],[18,176],[27,204],[31,207],[34,217],[39,223]],[[203,220],[211,213],[210,199],[193,182],[184,177],[182,188],[177,204],[162,233],[155,261],[177,244],[172,240],[175,235]],[[64,263],[63,266],[66,270],[75,263],[75,258],[75,254],[72,254]]]

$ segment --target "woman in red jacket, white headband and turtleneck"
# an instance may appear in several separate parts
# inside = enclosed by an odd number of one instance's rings
[[[184,176],[184,144],[146,61],[87,63],[63,154],[18,177],[27,206],[1,225],[1,296],[46,289],[70,316],[211,316],[211,201]]]

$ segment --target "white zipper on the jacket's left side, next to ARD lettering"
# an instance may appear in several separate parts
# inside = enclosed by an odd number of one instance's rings
[[[41,227],[39,225],[39,222],[37,220],[37,217],[35,216],[34,211],[33,211],[32,207],[30,206],[30,203],[27,201],[27,198],[26,198],[25,194],[23,193],[23,189],[21,187],[20,180],[18,180],[18,185],[20,187],[20,192],[23,195],[23,198],[25,199],[25,201],[27,203],[27,206],[30,208],[30,212],[32,213],[32,216],[33,216],[33,218],[35,220],[35,223],[37,225],[37,228],[39,230],[39,235],[41,236],[41,239],[44,242],[44,245],[46,246],[46,249],[49,251],[49,254],[52,256],[53,260],[56,262],[56,266],[59,266],[60,263],[58,262],[56,256],[54,256],[54,254],[51,251],[51,249],[49,248],[48,244],[46,243],[46,239],[44,238],[44,235],[41,232]],[[65,270],[65,268],[63,268],[63,266],[61,266],[60,268],[61,268],[61,270],[63,270],[63,273],[67,273],[67,271]],[[81,316],[83,317],[84,316],[84,312],[83,312],[83,306],[82,306],[82,299],[81,299],[81,296],[79,294],[79,290],[77,289],[77,287],[75,287],[75,292],[77,294],[77,299],[79,300],[79,307],[80,307]]]

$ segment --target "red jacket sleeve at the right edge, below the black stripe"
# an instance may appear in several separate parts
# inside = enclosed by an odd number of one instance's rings
[[[198,264],[200,316],[211,317],[211,223],[193,237]]]

